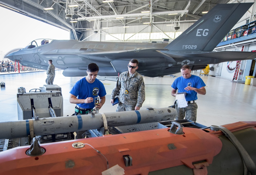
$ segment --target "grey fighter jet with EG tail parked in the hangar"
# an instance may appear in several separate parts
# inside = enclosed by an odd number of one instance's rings
[[[218,4],[169,44],[39,39],[6,57],[44,70],[51,59],[64,76],[86,76],[90,63],[99,66],[99,76],[118,76],[134,58],[137,72],[148,77],[178,73],[183,65],[199,70],[207,64],[254,59],[255,52],[213,51],[252,4]]]

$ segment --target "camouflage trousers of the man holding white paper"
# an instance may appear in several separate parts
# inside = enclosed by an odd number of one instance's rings
[[[185,119],[196,122],[196,114],[197,114],[196,103],[188,104],[188,106],[186,107],[178,107],[178,104],[176,103],[175,109],[177,110],[177,117],[175,118],[176,120],[182,120],[186,116]]]

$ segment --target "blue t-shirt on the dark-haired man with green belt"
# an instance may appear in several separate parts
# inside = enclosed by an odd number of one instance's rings
[[[88,97],[92,97],[93,102],[91,103],[77,104],[79,107],[92,109],[95,106],[94,98],[98,96],[104,97],[106,95],[106,90],[103,83],[101,83],[97,78],[93,83],[88,83],[86,77],[84,77],[76,82],[69,93],[76,96],[78,99],[86,99]]]

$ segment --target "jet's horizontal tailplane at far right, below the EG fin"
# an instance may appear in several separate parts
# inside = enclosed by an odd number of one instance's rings
[[[242,52],[242,51],[219,51],[219,52],[206,52],[189,54],[188,56],[198,57],[212,57],[220,59],[221,62],[238,61],[238,60],[251,60],[256,58],[256,52]]]

